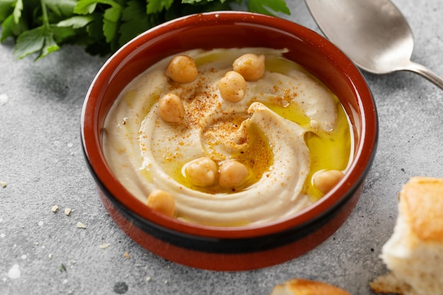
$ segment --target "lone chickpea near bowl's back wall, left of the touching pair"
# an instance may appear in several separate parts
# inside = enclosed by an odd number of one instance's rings
[[[197,79],[197,74],[194,59],[187,55],[173,57],[165,70],[165,75],[177,83],[190,83]]]

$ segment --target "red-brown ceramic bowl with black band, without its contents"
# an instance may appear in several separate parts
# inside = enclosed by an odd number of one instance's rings
[[[114,100],[132,79],[164,57],[195,48],[287,48],[341,100],[352,122],[355,154],[340,183],[290,218],[267,224],[215,227],[158,214],[119,183],[102,149],[102,128]],[[178,18],[134,38],[98,72],[81,115],[81,139],[99,195],[115,222],[134,241],[163,258],[207,270],[253,270],[276,265],[322,243],[347,219],[359,199],[376,150],[378,123],[362,74],[328,40],[280,18],[216,12]]]

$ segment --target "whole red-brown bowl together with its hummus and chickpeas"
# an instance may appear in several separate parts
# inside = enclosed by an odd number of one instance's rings
[[[135,37],[81,114],[117,225],[207,270],[276,265],[325,241],[361,195],[377,136],[371,91],[343,52],[297,23],[233,11]]]

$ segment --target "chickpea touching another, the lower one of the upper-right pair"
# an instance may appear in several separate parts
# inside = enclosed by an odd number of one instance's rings
[[[228,71],[222,79],[220,79],[217,87],[220,95],[224,100],[231,103],[238,103],[243,99],[246,92],[246,81],[236,71]]]

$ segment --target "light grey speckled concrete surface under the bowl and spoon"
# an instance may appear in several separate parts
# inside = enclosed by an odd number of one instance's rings
[[[292,21],[319,32],[304,1]],[[415,35],[413,60],[443,75],[443,1],[396,0]],[[337,20],[340,21],[340,20]],[[105,59],[64,47],[38,62],[0,45],[0,294],[269,294],[292,277],[372,294],[384,273],[397,192],[410,176],[443,177],[443,91],[408,72],[364,73],[379,110],[379,148],[362,197],[332,237],[295,260],[251,272],[176,265],[130,240],[98,199],[81,152],[84,96]],[[54,205],[57,213],[51,212]],[[71,208],[70,216],[64,214]],[[86,229],[77,229],[81,221]],[[100,249],[100,245],[110,246]],[[129,259],[125,257],[129,255]]]

